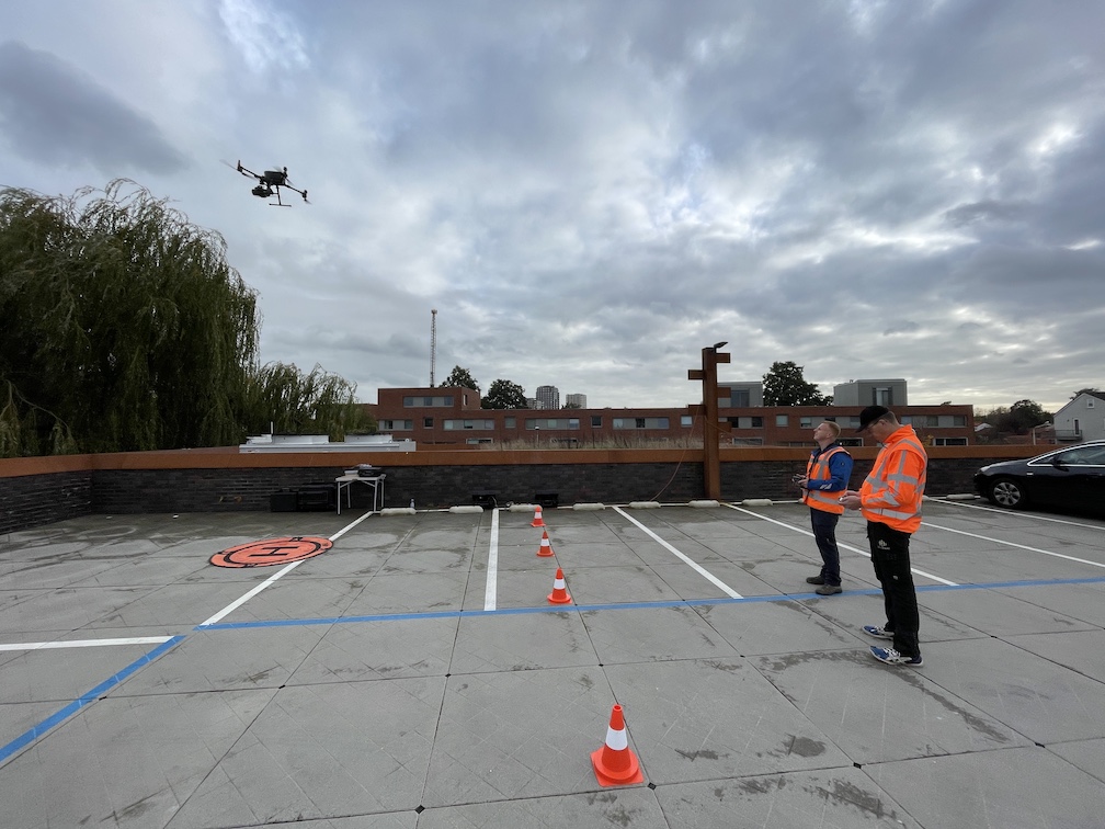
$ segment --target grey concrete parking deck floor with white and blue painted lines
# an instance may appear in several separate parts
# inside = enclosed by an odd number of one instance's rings
[[[0,810],[36,827],[1105,826],[1105,523],[928,501],[919,669],[797,504],[92,516],[0,537]],[[212,566],[274,537],[298,564]],[[557,567],[572,604],[551,606]],[[623,706],[644,781],[590,754]]]

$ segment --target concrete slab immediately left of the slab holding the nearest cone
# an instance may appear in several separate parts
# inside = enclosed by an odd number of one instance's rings
[[[428,676],[276,691],[232,748],[219,755],[170,826],[256,826],[413,810],[443,685],[443,678]]]

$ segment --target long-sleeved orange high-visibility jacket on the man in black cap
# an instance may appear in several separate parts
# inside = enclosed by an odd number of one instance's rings
[[[867,521],[903,533],[920,526],[928,455],[912,426],[891,434],[860,487],[860,511]]]

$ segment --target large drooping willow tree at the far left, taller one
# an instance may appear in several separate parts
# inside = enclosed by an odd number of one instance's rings
[[[0,190],[0,454],[239,442],[259,314],[225,254],[131,181]]]

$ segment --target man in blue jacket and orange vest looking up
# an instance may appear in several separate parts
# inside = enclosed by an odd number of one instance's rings
[[[818,423],[813,440],[818,447],[806,464],[806,476],[798,480],[802,490],[802,503],[810,507],[810,524],[813,539],[821,550],[824,563],[821,573],[807,578],[807,583],[818,585],[821,596],[841,592],[840,548],[836,546],[836,522],[844,514],[840,496],[848,490],[852,476],[852,455],[838,442],[840,427],[831,420]]]

